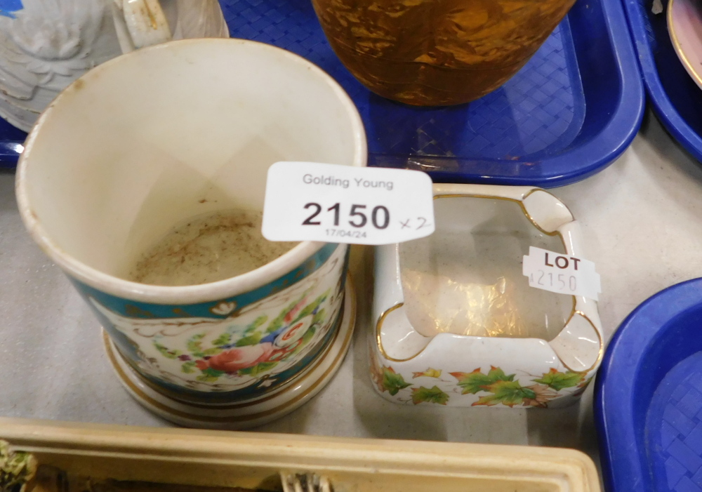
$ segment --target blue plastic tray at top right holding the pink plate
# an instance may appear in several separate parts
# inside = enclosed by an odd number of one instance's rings
[[[663,13],[651,13],[653,0],[624,0],[647,93],[665,128],[695,159],[702,161],[702,91],[678,60]]]

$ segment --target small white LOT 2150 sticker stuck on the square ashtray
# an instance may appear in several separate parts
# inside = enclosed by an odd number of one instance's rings
[[[602,292],[595,263],[534,246],[529,246],[529,255],[524,255],[522,274],[529,277],[529,286],[544,291],[583,295],[594,300]]]

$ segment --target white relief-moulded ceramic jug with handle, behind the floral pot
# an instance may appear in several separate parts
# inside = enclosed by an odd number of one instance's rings
[[[63,88],[124,51],[228,36],[217,0],[0,0],[0,117],[29,131]]]

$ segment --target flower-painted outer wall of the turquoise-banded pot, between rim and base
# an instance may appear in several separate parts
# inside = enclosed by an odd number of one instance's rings
[[[326,244],[265,286],[191,305],[135,302],[72,281],[152,385],[189,401],[241,401],[279,390],[329,345],[347,250]]]

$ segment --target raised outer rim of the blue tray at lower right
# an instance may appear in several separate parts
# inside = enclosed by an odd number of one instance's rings
[[[677,314],[699,305],[701,293],[702,279],[691,279],[651,295],[624,319],[609,342],[595,381],[594,402],[602,479],[609,492],[653,492],[651,477],[644,474],[640,463],[645,450],[638,448],[631,422],[635,406],[633,375],[656,332]],[[612,390],[609,390],[610,379],[618,383]],[[607,412],[607,408],[614,411]],[[617,460],[617,456],[631,459]]]

